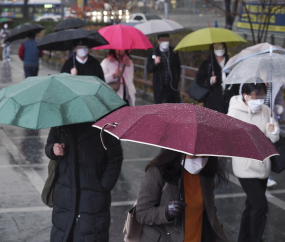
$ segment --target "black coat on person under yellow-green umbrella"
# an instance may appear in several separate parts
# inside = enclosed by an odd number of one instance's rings
[[[226,62],[227,63],[227,58]],[[212,65],[211,59],[203,61],[199,67],[199,71],[196,75],[196,82],[199,86],[210,89],[206,101],[204,102],[204,107],[210,108],[212,110],[228,113],[229,102],[232,96],[238,95],[239,85],[235,84],[229,90],[230,85],[226,85],[224,94],[222,88],[222,69],[217,62],[216,58],[213,57],[214,62],[214,73],[217,76],[217,82],[211,85],[210,79],[212,76]]]

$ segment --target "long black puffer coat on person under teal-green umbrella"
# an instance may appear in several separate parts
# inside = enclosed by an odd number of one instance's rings
[[[45,147],[50,159],[58,158],[53,145],[65,144],[53,194],[51,242],[109,241],[111,190],[121,171],[122,148],[120,141],[104,133],[104,150],[100,131],[91,125],[50,130]]]

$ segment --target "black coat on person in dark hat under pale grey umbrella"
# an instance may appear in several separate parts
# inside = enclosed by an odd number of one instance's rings
[[[179,81],[180,81],[180,59],[177,52],[173,51],[172,47],[169,47],[169,65],[173,78],[173,88],[178,89]],[[173,91],[170,85],[165,86],[163,83],[163,63],[159,63],[156,65],[154,63],[153,56],[161,56],[161,51],[159,47],[154,49],[147,60],[147,71],[149,73],[153,73],[153,94],[154,94],[154,102],[158,103],[180,103],[180,92]]]

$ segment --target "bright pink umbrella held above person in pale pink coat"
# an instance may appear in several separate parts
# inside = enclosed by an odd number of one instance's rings
[[[111,25],[98,31],[110,44],[95,47],[95,50],[149,49],[153,48],[148,38],[138,29],[128,25]]]

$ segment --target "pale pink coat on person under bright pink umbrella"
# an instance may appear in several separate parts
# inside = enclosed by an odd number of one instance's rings
[[[126,58],[126,56],[124,57]],[[122,66],[119,68],[119,62],[113,57],[109,56],[105,58],[101,62],[101,66],[104,72],[104,77],[106,83],[112,83],[116,82],[118,78],[113,78],[113,74],[118,70],[122,69]],[[123,74],[124,80],[125,80],[125,87],[126,87],[126,92],[127,92],[127,99],[129,101],[130,106],[135,106],[135,101],[136,101],[136,88],[134,85],[134,65],[133,62],[131,61],[130,66],[125,67],[125,71]],[[124,96],[124,85],[121,84],[120,89],[117,91],[117,94],[123,99]]]

